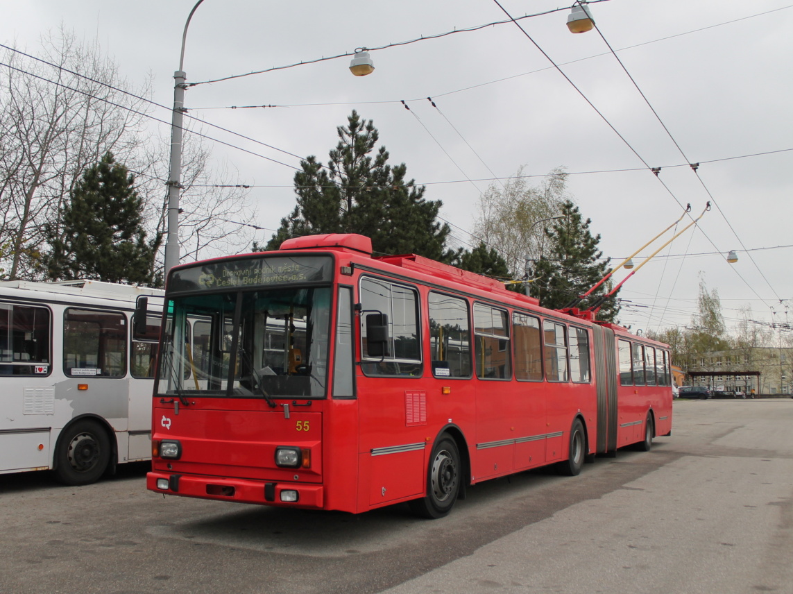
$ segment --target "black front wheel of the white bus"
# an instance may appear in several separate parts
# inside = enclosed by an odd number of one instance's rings
[[[90,485],[110,462],[110,439],[96,421],[80,420],[63,430],[55,454],[55,474],[64,485]]]

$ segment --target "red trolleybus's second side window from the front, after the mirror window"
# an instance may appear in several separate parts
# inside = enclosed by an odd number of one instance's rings
[[[430,359],[435,377],[471,376],[468,301],[430,293]]]

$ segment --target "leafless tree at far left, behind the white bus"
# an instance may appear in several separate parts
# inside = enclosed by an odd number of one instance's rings
[[[44,224],[82,171],[112,151],[134,163],[150,85],[132,86],[97,42],[44,33],[38,56],[8,49],[0,67],[0,246],[10,278],[40,275]]]

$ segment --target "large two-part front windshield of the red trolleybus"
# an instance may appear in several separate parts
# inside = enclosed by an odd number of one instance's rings
[[[330,305],[327,287],[170,299],[157,392],[324,397]]]

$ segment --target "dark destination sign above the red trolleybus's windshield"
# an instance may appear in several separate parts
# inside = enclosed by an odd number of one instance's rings
[[[330,282],[332,278],[333,259],[330,256],[274,256],[216,260],[174,270],[167,289],[169,293],[245,289]]]

